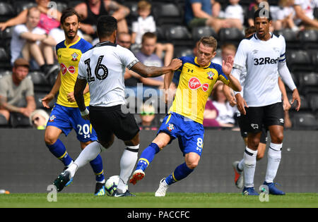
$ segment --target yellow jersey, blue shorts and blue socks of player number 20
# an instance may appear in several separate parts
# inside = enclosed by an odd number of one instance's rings
[[[68,101],[67,94],[73,92],[78,75],[78,63],[82,54],[90,48],[92,48],[92,45],[81,37],[78,37],[76,42],[71,44],[66,44],[65,40],[57,44],[57,59],[61,68],[59,73],[59,75],[61,75],[61,86],[59,87],[57,103],[54,104],[54,108],[52,109],[47,123],[47,126],[52,125],[62,130],[66,136],[74,129],[76,131],[77,139],[80,142],[95,141],[98,139],[90,121],[84,120],[81,117],[81,112],[78,109],[76,101]],[[90,103],[90,94],[86,93],[84,99],[85,104],[88,107]],[[47,147],[54,156],[63,162],[64,166],[69,166],[69,164],[71,164],[72,159],[66,152],[66,148],[61,140],[58,139],[57,142],[52,145],[47,144]],[[90,161],[90,166],[93,168],[96,182],[98,182],[96,183],[95,195],[105,195],[105,188],[102,187],[102,189],[100,189],[99,185],[105,181],[102,158],[100,155],[93,159],[93,161]],[[69,185],[69,183],[67,185]]]

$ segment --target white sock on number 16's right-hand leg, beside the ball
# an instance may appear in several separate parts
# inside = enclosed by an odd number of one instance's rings
[[[124,150],[124,153],[122,154],[122,159],[120,159],[119,183],[117,185],[117,190],[119,193],[124,193],[127,190],[126,184],[136,165],[136,161],[138,159],[138,150],[139,144],[134,147],[127,146],[127,148]]]

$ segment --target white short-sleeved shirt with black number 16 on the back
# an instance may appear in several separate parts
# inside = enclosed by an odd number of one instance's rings
[[[100,42],[86,51],[78,64],[77,78],[88,81],[90,106],[125,104],[125,68],[138,62],[129,49],[112,42]]]

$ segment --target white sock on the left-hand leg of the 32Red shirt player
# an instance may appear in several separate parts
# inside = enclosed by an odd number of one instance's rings
[[[254,174],[257,163],[257,150],[245,148],[244,152],[244,181],[245,187],[254,187]]]

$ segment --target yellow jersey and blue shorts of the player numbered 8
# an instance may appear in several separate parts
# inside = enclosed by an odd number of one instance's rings
[[[183,154],[195,152],[201,155],[204,142],[204,108],[208,96],[216,81],[226,85],[229,80],[222,71],[222,66],[209,63],[201,67],[196,57],[180,58],[182,66],[176,71],[179,75],[179,85],[175,100],[164,118],[159,132],[165,132],[172,138],[178,138]]]

